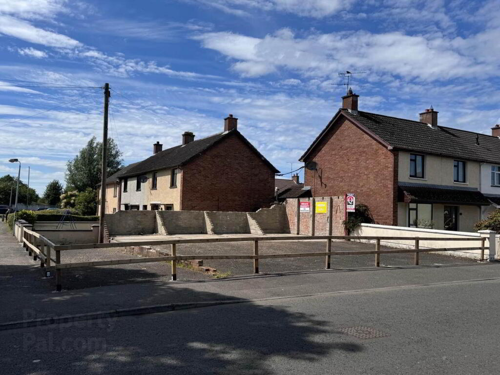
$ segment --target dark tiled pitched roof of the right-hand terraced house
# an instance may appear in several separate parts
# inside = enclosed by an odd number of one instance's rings
[[[446,126],[430,126],[405,118],[346,109],[340,109],[335,114],[301,156],[301,160],[310,152],[339,114],[353,120],[355,124],[362,126],[386,146],[394,149],[500,163],[500,139],[498,137]]]

